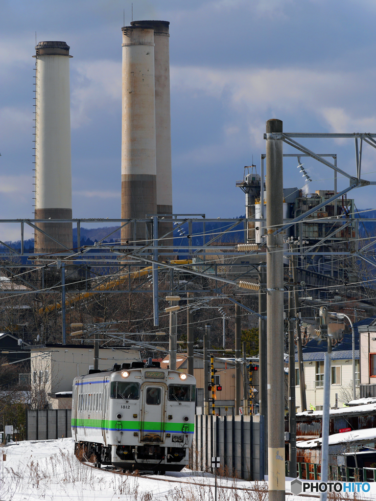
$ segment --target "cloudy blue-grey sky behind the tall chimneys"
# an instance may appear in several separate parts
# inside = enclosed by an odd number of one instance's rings
[[[73,55],[73,217],[120,217],[121,27],[131,2],[0,0],[0,8],[0,218],[33,217],[36,36],[67,42]],[[245,213],[235,183],[252,158],[260,168],[270,118],[286,132],[376,133],[374,0],[135,0],[133,19],[170,22],[176,213]],[[353,139],[300,141],[355,173]],[[363,178],[376,180],[375,157],[365,146]],[[309,192],[333,189],[331,169],[302,162]],[[285,187],[303,186],[296,166],[285,159]],[[346,186],[338,178],[338,191]],[[348,196],[360,210],[376,207],[374,193]],[[16,239],[18,230],[0,223],[0,233]]]

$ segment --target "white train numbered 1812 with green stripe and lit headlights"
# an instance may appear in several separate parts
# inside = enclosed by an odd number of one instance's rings
[[[89,370],[73,380],[75,454],[95,466],[157,474],[187,465],[196,379],[151,359]]]

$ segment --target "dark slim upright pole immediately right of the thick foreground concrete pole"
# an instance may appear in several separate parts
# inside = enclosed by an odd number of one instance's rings
[[[290,244],[290,250],[292,245]],[[295,336],[294,336],[294,291],[292,279],[292,259],[290,258],[289,280],[289,476],[296,478],[296,403],[295,403]]]

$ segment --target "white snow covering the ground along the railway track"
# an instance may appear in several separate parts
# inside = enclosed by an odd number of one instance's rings
[[[72,438],[25,441],[0,452],[0,501],[213,501],[214,475],[184,469],[165,476],[118,475],[90,468],[73,453]],[[3,460],[3,454],[6,460]],[[151,477],[151,478],[150,478]],[[166,481],[167,480],[167,481]],[[290,491],[286,479],[286,490]],[[217,477],[218,501],[267,501],[266,482]],[[235,489],[225,488],[235,487]],[[256,489],[245,490],[245,489]],[[376,483],[367,496],[376,499]],[[288,494],[286,501],[313,501]]]

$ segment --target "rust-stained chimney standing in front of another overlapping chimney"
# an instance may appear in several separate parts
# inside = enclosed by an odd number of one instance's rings
[[[122,28],[121,217],[156,214],[154,32]],[[146,225],[121,230],[122,241],[144,243]]]

